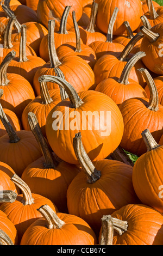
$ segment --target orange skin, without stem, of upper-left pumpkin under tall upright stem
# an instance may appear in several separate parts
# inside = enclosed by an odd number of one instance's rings
[[[27,58],[27,62],[20,62],[18,57],[11,60],[8,72],[23,76],[30,84],[33,84],[36,71],[46,62],[40,57],[27,56]]]

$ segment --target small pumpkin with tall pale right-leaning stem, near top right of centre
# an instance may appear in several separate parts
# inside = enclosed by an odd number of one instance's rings
[[[99,59],[108,52],[122,52],[124,49],[124,46],[122,44],[112,41],[112,31],[118,11],[118,8],[115,7],[114,12],[111,16],[111,20],[109,22],[106,41],[103,42],[101,40],[96,40],[89,45],[95,51],[97,59]]]

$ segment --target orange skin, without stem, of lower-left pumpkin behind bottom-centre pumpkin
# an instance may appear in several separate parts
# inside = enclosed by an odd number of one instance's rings
[[[19,194],[14,203],[3,203],[0,206],[0,210],[3,211],[15,225],[19,243],[29,225],[42,217],[37,209],[42,205],[48,204],[56,212],[55,205],[51,200],[34,193],[32,193],[32,197],[34,199],[34,203],[31,205],[23,205],[23,196],[22,194]]]

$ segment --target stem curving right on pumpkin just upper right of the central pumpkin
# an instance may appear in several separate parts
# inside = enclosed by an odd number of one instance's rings
[[[131,72],[131,69],[133,68],[133,66],[135,65],[136,62],[138,62],[139,59],[141,59],[142,57],[146,56],[145,52],[137,52],[132,58],[130,58],[126,64],[126,66],[124,67],[121,77],[118,80],[118,83],[121,84],[129,84],[129,75]]]

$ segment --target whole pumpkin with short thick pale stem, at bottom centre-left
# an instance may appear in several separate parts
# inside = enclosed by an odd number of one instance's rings
[[[22,237],[21,245],[97,244],[95,233],[82,218],[60,212],[55,214],[49,205],[41,206],[38,211],[43,217],[30,225]]]

